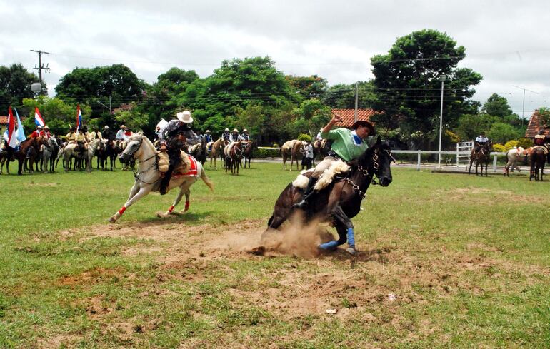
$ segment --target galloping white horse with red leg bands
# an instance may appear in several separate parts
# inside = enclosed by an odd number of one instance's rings
[[[120,154],[121,161],[129,161],[130,158],[135,158],[138,163],[138,173],[136,175],[136,181],[134,186],[130,189],[130,195],[128,196],[128,201],[124,203],[124,206],[116,212],[109,221],[115,223],[122,216],[122,213],[126,211],[126,208],[129,208],[132,204],[138,201],[140,198],[143,198],[151,191],[159,191],[161,186],[161,172],[156,164],[157,154],[156,148],[153,146],[153,143],[149,141],[149,138],[136,134],[129,138],[128,144],[124,151]],[[181,198],[185,194],[185,208],[182,212],[189,210],[189,188],[193,183],[195,183],[199,177],[204,181],[206,186],[210,188],[211,191],[214,191],[214,184],[210,181],[210,178],[206,176],[204,168],[202,167],[199,161],[196,162],[197,173],[196,176],[172,176],[168,191],[174,188],[179,187],[179,193],[174,200],[174,203],[166,215],[169,215],[174,211],[174,207],[181,201]]]

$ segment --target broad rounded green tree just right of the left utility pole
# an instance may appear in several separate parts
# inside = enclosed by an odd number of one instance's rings
[[[124,64],[96,66],[95,68],[75,68],[64,75],[56,86],[59,98],[65,101],[91,106],[91,117],[98,118],[111,109],[124,103],[141,101],[147,84],[138,79]]]

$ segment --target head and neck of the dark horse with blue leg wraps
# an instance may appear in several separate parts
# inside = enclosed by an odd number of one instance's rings
[[[395,162],[395,158],[391,155],[391,148],[387,142],[382,142],[380,136],[373,146],[368,148],[363,155],[359,156],[354,161],[351,161],[351,166],[364,172],[367,176],[379,178],[381,186],[389,186],[393,178],[391,176],[391,162]]]

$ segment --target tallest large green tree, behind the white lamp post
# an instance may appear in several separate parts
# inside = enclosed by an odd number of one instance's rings
[[[453,128],[465,113],[476,113],[471,88],[481,75],[457,68],[466,56],[464,46],[433,29],[414,31],[395,42],[388,54],[371,59],[374,74],[374,108],[381,113],[374,121],[385,128],[401,128],[413,146],[429,146],[439,134],[441,82],[444,88],[444,123]],[[410,135],[410,136],[406,136]]]

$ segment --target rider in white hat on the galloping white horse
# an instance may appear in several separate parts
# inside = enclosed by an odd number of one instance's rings
[[[185,143],[193,145],[199,142],[199,136],[196,136],[191,130],[191,123],[193,122],[191,112],[177,113],[177,118],[177,120],[166,123],[159,134],[161,151],[166,151],[169,156],[168,171],[164,173],[161,181],[161,195],[166,194],[172,172],[181,162],[181,148],[184,147]]]

